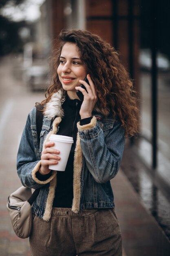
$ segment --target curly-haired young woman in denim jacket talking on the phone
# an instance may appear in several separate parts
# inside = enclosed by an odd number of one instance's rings
[[[125,137],[137,132],[132,82],[115,49],[89,31],[62,31],[51,63],[40,145],[33,108],[17,157],[22,184],[41,188],[32,207],[31,255],[121,256],[110,180],[118,172]],[[49,169],[60,161],[60,151],[49,142],[56,133],[74,140],[64,172]]]

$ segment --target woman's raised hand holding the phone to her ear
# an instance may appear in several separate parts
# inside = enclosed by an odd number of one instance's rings
[[[80,86],[75,87],[76,90],[79,90],[84,95],[84,101],[82,103],[82,106],[79,112],[81,119],[92,116],[93,108],[95,107],[95,104],[97,102],[95,85],[91,80],[91,76],[89,74],[87,75],[87,79],[90,85],[88,85],[88,83],[86,83],[84,80],[79,80],[79,82],[86,87],[87,92],[85,89],[81,88]]]

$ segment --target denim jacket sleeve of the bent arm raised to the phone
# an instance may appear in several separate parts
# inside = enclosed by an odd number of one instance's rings
[[[115,121],[104,137],[96,117],[90,124],[80,126],[78,123],[77,127],[88,170],[96,182],[108,182],[119,170],[125,143],[124,128]]]

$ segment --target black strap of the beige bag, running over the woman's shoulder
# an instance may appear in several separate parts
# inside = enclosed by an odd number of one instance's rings
[[[42,130],[42,122],[43,122],[43,114],[42,111],[43,106],[42,105],[36,105],[36,129],[37,129],[37,136],[38,136],[38,143],[40,145],[40,133]],[[35,189],[35,191],[32,193],[31,197],[27,200],[30,205],[33,204],[35,198],[37,198],[38,194],[40,192],[40,189]]]

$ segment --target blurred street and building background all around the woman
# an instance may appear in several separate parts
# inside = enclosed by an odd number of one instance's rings
[[[49,56],[64,27],[86,28],[114,45],[140,98],[140,133],[126,139],[121,168],[111,180],[123,256],[170,255],[170,2],[163,1],[159,8],[154,0],[1,1],[0,256],[31,255],[29,239],[12,230],[6,204],[21,186],[16,171],[20,137],[29,111],[44,99]]]

